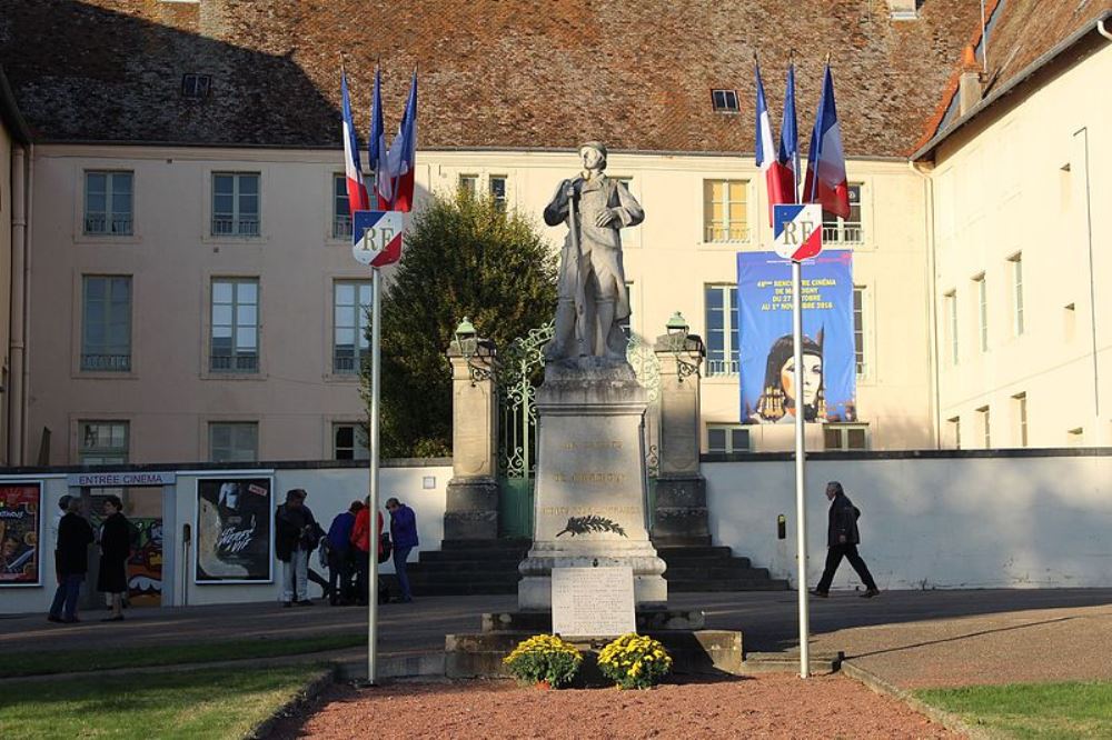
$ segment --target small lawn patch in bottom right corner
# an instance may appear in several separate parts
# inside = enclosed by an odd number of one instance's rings
[[[1112,737],[1112,681],[924,689],[915,696],[1013,738]]]

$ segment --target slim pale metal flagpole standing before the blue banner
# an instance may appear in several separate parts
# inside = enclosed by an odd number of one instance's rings
[[[793,54],[794,57],[794,54]],[[792,60],[794,62],[794,59]],[[794,74],[793,74],[794,77]],[[798,150],[798,144],[796,144]],[[800,200],[800,167],[793,163],[795,198]],[[817,174],[817,172],[816,172]],[[820,224],[818,228],[822,228]],[[792,341],[795,349],[795,519],[796,569],[800,607],[800,677],[811,676],[811,614],[807,603],[807,459],[804,437],[803,393],[803,267],[792,260]]]

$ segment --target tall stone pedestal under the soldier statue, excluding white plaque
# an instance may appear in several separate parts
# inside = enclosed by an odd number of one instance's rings
[[[634,598],[664,607],[665,563],[645,512],[645,390],[625,362],[550,363],[537,391],[536,518],[518,608],[552,608],[552,569],[628,566]]]

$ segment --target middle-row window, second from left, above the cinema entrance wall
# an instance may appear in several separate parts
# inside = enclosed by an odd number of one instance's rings
[[[212,281],[212,372],[258,372],[259,281],[254,278]]]

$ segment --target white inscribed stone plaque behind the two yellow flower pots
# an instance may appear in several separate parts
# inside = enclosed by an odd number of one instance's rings
[[[553,568],[553,632],[617,637],[637,630],[632,568]]]

